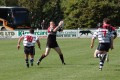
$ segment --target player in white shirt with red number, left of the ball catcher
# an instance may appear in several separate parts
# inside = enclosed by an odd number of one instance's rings
[[[31,66],[33,66],[34,55],[35,55],[35,43],[37,42],[38,47],[40,48],[40,41],[39,41],[39,37],[34,35],[34,29],[30,29],[29,34],[23,35],[18,39],[18,45],[17,45],[18,50],[20,49],[20,43],[22,40],[24,46],[25,61],[27,67],[29,68],[29,56],[30,56]]]

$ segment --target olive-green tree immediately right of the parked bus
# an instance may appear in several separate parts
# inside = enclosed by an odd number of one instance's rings
[[[30,11],[32,27],[41,28],[40,23],[43,20],[44,4],[44,0],[19,0],[19,6],[25,7]]]

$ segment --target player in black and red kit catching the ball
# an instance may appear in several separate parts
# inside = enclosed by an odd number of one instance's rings
[[[51,48],[53,48],[59,54],[62,64],[65,64],[63,54],[62,54],[61,49],[58,46],[58,43],[56,41],[56,33],[58,30],[61,30],[60,29],[61,25],[62,25],[62,23],[60,22],[59,25],[56,27],[55,23],[53,21],[50,22],[50,26],[48,27],[46,50],[45,50],[45,53],[42,54],[42,56],[38,60],[37,65],[39,65],[40,62],[42,61],[42,59],[45,58],[50,53]]]

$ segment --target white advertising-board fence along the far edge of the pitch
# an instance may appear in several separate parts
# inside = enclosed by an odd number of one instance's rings
[[[64,30],[63,32],[57,32],[58,38],[91,38],[96,29],[89,30]],[[0,31],[0,39],[3,38],[19,38],[24,34],[28,34],[28,30],[18,31]],[[118,37],[120,37],[120,29],[117,29]],[[47,37],[47,30],[35,30],[35,35],[40,37]]]

